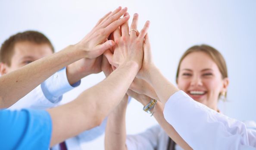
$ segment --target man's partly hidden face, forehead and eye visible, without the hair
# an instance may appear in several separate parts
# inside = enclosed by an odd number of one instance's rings
[[[36,44],[34,42],[17,42],[14,45],[13,55],[11,57],[10,66],[1,64],[1,74],[12,72],[22,66],[27,65],[35,60],[53,54],[53,50],[49,44]]]

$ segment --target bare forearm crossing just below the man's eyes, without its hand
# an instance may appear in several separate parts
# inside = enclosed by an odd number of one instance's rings
[[[81,59],[83,53],[75,50],[74,46],[69,46],[49,57],[44,57],[21,69],[1,76],[0,108],[11,106],[54,72]]]

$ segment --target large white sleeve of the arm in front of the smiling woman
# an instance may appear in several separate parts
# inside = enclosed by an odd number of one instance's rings
[[[255,137],[255,130],[248,131],[243,122],[213,111],[183,91],[176,92],[165,103],[164,117],[195,150],[256,147],[256,139],[250,138]]]

